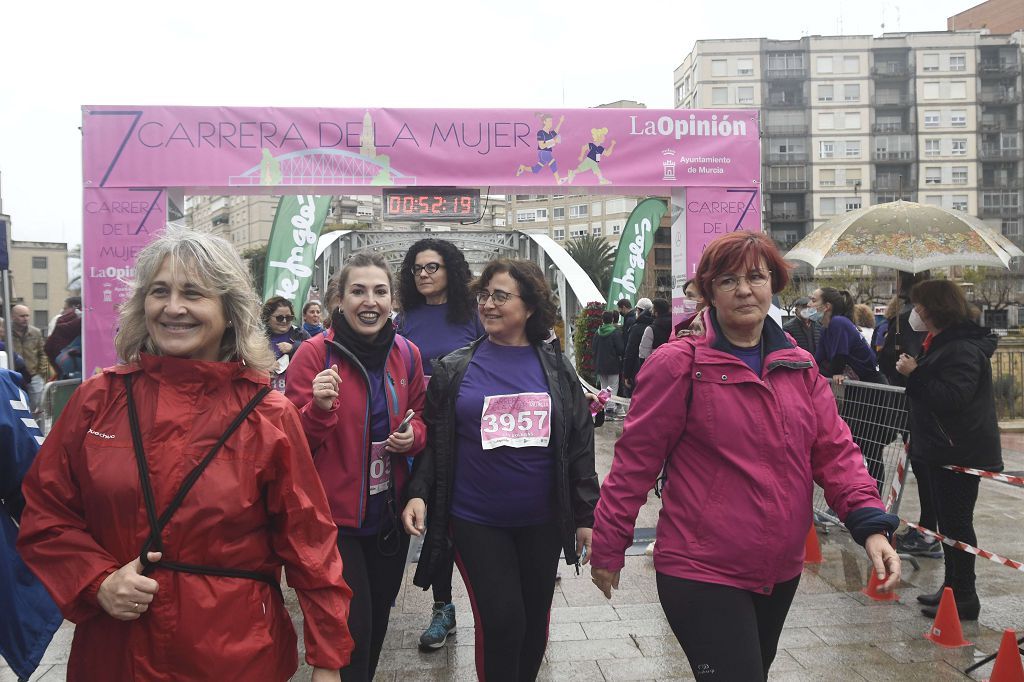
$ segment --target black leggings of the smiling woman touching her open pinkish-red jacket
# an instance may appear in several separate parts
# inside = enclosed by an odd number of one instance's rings
[[[341,669],[341,679],[345,682],[374,679],[391,617],[391,604],[398,596],[406,572],[409,536],[398,532],[398,552],[384,556],[377,546],[377,536],[338,534],[338,551],[344,564],[342,573],[352,589],[348,630],[355,642],[351,662]]]

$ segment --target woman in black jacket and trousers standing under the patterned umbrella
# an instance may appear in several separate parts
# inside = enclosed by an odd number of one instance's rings
[[[928,468],[939,531],[974,546],[974,506],[981,479],[943,467],[1002,470],[990,359],[998,337],[974,322],[974,310],[952,282],[914,285],[910,302],[910,327],[928,332],[916,358],[904,353],[896,361],[896,371],[907,378],[910,459],[914,469]],[[942,550],[943,584],[935,594],[918,597],[925,604],[922,612],[934,617],[942,588],[951,587],[961,620],[977,620],[981,604],[975,591],[975,556],[947,545]]]

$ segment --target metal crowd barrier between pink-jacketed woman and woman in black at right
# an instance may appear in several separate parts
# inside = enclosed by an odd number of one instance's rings
[[[886,511],[899,513],[906,472],[908,435],[906,394],[901,386],[829,380],[839,415],[850,427],[853,440],[864,456],[864,466],[878,481]],[[814,486],[814,518],[823,524],[839,525],[836,512],[825,502],[824,492]]]

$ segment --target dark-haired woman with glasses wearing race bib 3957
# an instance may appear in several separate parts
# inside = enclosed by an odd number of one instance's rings
[[[559,553],[587,563],[594,423],[575,372],[544,343],[555,307],[541,269],[494,260],[474,290],[486,336],[434,365],[429,438],[402,521],[414,536],[426,527],[414,581],[423,589],[444,580],[454,544],[479,679],[534,680]]]

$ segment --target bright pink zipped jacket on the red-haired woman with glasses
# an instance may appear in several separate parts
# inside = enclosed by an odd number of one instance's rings
[[[601,487],[592,562],[623,567],[666,465],[655,569],[767,594],[803,568],[812,481],[841,519],[884,505],[811,355],[766,319],[758,377],[718,347],[703,314],[705,336],[664,344],[638,375]]]

